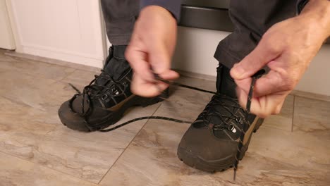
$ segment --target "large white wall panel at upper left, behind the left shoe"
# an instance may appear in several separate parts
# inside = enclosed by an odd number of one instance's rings
[[[99,1],[7,0],[20,53],[102,67]]]

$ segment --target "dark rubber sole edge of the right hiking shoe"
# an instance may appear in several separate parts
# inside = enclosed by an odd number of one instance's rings
[[[256,118],[255,122],[255,128],[253,129],[253,132],[257,132],[259,127],[262,125],[264,119],[262,118]],[[250,135],[249,139],[247,140],[247,143],[242,148],[242,153],[240,154],[240,157],[238,157],[239,160],[242,160],[245,156],[245,152],[247,151],[250,140],[251,140],[252,134]],[[212,161],[207,161],[202,159],[200,156],[196,156],[195,154],[192,154],[190,151],[187,151],[186,149],[179,148],[178,149],[178,159],[183,161],[186,165],[197,168],[200,171],[206,171],[209,173],[216,173],[219,171],[225,171],[228,168],[232,168],[234,163],[236,162],[235,156],[236,154],[233,154],[231,156],[227,156],[223,159],[217,159]]]

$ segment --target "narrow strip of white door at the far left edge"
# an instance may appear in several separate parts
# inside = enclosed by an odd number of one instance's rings
[[[0,48],[11,50],[16,48],[6,7],[6,0],[0,0]]]

